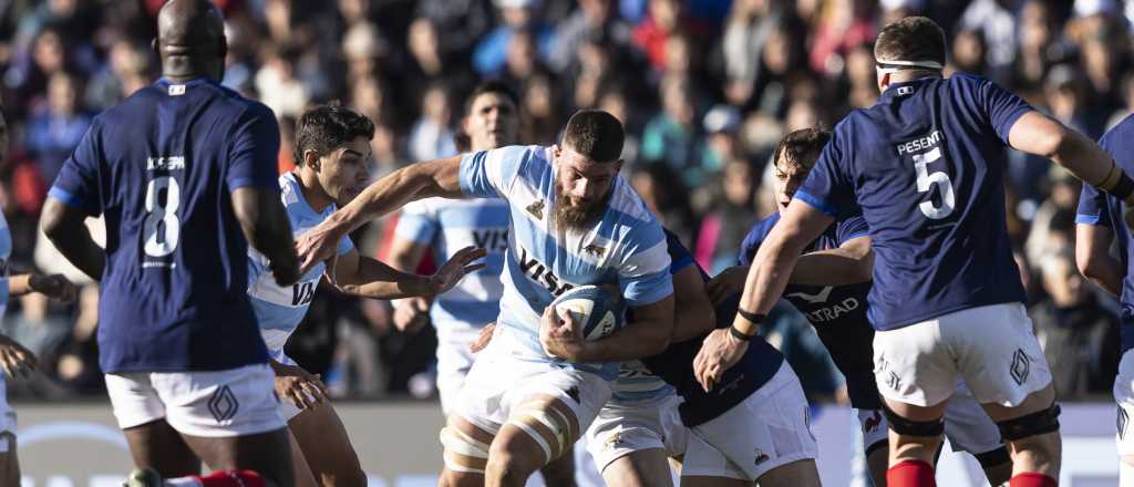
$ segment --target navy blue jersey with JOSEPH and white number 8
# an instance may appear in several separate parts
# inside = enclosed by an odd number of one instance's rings
[[[230,191],[279,191],[266,106],[198,78],[159,80],[94,119],[51,196],[107,223],[104,373],[266,362]]]

